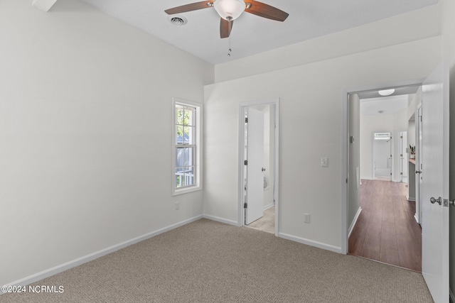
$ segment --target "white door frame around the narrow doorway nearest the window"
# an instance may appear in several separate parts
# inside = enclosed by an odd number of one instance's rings
[[[256,101],[247,101],[241,102],[239,104],[239,120],[238,120],[238,131],[239,131],[239,141],[238,141],[238,212],[237,212],[237,222],[238,226],[245,225],[245,209],[243,208],[243,198],[244,198],[244,163],[243,163],[243,151],[244,151],[244,142],[245,142],[245,108],[248,106],[258,106],[258,105],[274,105],[275,106],[275,131],[274,131],[274,199],[275,199],[275,236],[278,236],[279,232],[279,98],[273,99],[263,99]]]

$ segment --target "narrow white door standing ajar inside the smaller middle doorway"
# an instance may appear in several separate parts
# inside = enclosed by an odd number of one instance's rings
[[[247,208],[245,224],[264,216],[264,114],[247,109]]]

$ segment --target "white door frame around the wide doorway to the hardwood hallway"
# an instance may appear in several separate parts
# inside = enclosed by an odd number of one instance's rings
[[[342,92],[343,112],[341,128],[341,253],[348,253],[348,182],[355,181],[355,177],[349,177],[349,94],[359,92],[378,91],[389,87],[409,87],[419,86],[424,82],[424,78],[400,80],[395,82],[386,82],[382,84],[370,84],[362,87],[350,87]]]

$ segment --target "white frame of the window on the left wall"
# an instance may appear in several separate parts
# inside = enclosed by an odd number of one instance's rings
[[[176,106],[191,106],[195,107],[195,123],[196,123],[196,131],[195,131],[195,180],[194,185],[188,187],[176,187],[176,148],[181,147],[176,143]],[[188,192],[196,192],[202,189],[202,150],[203,150],[203,140],[202,140],[202,117],[203,117],[203,104],[194,101],[188,101],[178,98],[172,99],[172,170],[171,170],[171,177],[172,177],[172,195],[176,196],[178,194],[186,194]]]

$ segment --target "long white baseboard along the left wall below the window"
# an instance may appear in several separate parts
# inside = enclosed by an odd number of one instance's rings
[[[176,224],[171,224],[171,225],[166,226],[164,228],[159,228],[158,230],[152,231],[151,233],[146,233],[145,235],[142,235],[142,236],[139,236],[139,237],[136,237],[136,238],[132,238],[131,240],[124,241],[124,242],[119,243],[117,245],[110,246],[110,247],[102,249],[102,250],[98,250],[95,253],[90,253],[89,255],[84,255],[83,257],[77,258],[75,260],[71,260],[71,261],[69,261],[67,263],[63,263],[63,264],[54,266],[53,268],[49,268],[47,270],[43,270],[41,272],[37,272],[36,274],[29,275],[28,277],[24,277],[22,279],[14,281],[14,282],[7,283],[6,285],[11,285],[11,286],[13,286],[13,285],[21,285],[21,286],[24,286],[24,285],[28,285],[28,284],[31,284],[33,282],[39,281],[39,280],[43,280],[46,277],[50,277],[50,276],[56,275],[56,274],[58,274],[60,272],[64,272],[65,270],[69,270],[70,268],[75,268],[78,265],[82,265],[84,263],[90,262],[92,260],[95,260],[97,258],[102,257],[103,255],[107,255],[109,253],[113,253],[116,250],[125,248],[127,246],[130,246],[130,245],[133,245],[133,244],[136,244],[136,243],[139,243],[139,242],[147,240],[149,238],[153,238],[154,236],[158,236],[160,233],[165,233],[166,231],[170,231],[173,228],[177,228],[177,227],[186,225],[188,223],[191,223],[193,221],[197,221],[197,220],[202,219],[202,218],[203,218],[203,216],[199,215],[199,216],[195,216],[195,217],[190,218],[190,219],[186,219],[186,220],[180,221],[180,222],[178,222]],[[0,292],[0,294],[3,294],[3,292]]]

